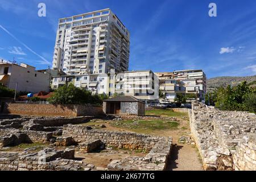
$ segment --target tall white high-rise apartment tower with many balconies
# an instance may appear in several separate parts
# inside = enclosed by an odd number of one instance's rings
[[[110,9],[59,19],[52,68],[68,75],[125,72],[130,34]]]

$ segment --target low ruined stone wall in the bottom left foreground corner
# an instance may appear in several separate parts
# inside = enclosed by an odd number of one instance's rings
[[[37,153],[0,152],[0,171],[89,171],[93,165],[73,160],[75,150],[47,148]]]

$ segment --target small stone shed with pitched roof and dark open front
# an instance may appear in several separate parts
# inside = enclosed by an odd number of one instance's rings
[[[145,103],[133,96],[118,96],[103,101],[105,114],[145,115]]]

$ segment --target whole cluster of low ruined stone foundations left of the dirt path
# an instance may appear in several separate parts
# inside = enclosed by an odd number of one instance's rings
[[[9,117],[9,116],[8,116]],[[11,117],[11,115],[10,115]],[[86,123],[93,117],[21,117],[3,118],[0,122],[0,148],[21,143],[49,143],[35,152],[0,152],[0,170],[98,170],[93,164],[75,159],[75,150],[93,152],[106,147],[127,148],[149,152],[144,157],[129,156],[113,160],[104,170],[164,170],[171,153],[171,137],[92,129],[75,125]],[[65,147],[57,150],[56,147]]]

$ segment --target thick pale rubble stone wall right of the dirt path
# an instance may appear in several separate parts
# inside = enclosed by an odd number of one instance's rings
[[[206,170],[256,170],[256,115],[195,103],[191,133]]]

